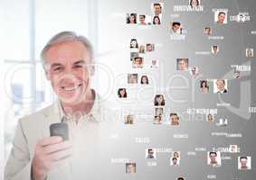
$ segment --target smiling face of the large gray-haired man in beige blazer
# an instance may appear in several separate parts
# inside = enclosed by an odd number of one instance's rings
[[[64,103],[80,103],[90,89],[90,54],[79,41],[53,45],[45,53],[46,76]]]

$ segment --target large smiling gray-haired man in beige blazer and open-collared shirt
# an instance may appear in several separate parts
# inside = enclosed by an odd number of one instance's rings
[[[20,119],[5,180],[95,178],[97,173],[84,168],[104,165],[100,149],[108,145],[112,129],[103,123],[109,122],[103,121],[105,112],[111,115],[109,104],[90,87],[95,65],[90,41],[63,31],[52,37],[41,55],[58,101]],[[49,127],[56,122],[68,124],[69,140],[50,137]]]

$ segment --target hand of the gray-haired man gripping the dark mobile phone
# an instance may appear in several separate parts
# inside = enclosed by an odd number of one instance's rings
[[[33,180],[44,180],[52,164],[71,156],[71,143],[62,137],[52,136],[40,139],[35,147],[32,161]]]

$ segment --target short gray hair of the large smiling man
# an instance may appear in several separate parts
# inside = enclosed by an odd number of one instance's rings
[[[90,53],[90,63],[94,64],[93,48],[90,43],[90,40],[88,40],[84,36],[77,35],[77,33],[74,31],[62,31],[54,35],[52,39],[47,42],[47,44],[44,46],[43,50],[41,51],[41,59],[43,60],[43,67],[45,67],[44,56],[47,50],[50,49],[53,45],[66,42],[66,41],[81,41],[81,43],[86,47],[86,49]]]

